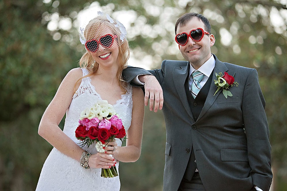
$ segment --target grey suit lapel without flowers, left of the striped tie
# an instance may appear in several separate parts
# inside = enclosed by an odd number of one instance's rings
[[[181,102],[183,103],[183,106],[191,119],[193,119],[193,115],[191,113],[191,109],[186,97],[186,92],[185,92],[185,80],[187,78],[187,75],[189,73],[189,62],[187,62],[186,66],[182,67],[175,67],[173,70],[173,80],[174,80],[174,85],[176,88],[176,91],[178,93],[178,97],[180,98]]]

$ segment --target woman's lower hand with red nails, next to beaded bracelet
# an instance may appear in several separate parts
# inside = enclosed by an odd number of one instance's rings
[[[96,153],[89,158],[88,165],[90,168],[104,168],[109,169],[115,166],[117,162],[113,157],[105,153]]]

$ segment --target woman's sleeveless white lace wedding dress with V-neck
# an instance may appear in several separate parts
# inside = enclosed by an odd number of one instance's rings
[[[82,70],[83,76],[88,74],[88,70]],[[63,132],[74,142],[80,142],[75,138],[75,130],[78,126],[81,111],[86,107],[92,106],[97,100],[101,100],[101,97],[96,92],[94,86],[92,86],[91,79],[89,77],[83,78],[78,90],[73,96],[71,105],[66,112],[63,130]],[[126,131],[128,131],[132,120],[132,87],[130,85],[128,85],[127,93],[123,94],[121,99],[113,106],[122,119],[123,126]],[[117,144],[121,146],[121,140],[117,140]],[[97,153],[94,144],[89,148],[83,147],[83,149],[93,154]],[[119,163],[116,164],[116,167],[117,170],[119,170]],[[119,189],[119,176],[114,178],[102,178],[101,169],[84,169],[80,166],[79,161],[62,154],[56,148],[53,148],[43,165],[36,191],[115,191]]]

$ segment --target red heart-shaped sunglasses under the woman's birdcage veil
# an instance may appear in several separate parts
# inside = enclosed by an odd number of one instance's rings
[[[101,36],[99,40],[88,40],[85,43],[85,47],[88,51],[95,53],[99,49],[99,44],[101,44],[104,48],[110,48],[113,45],[113,42],[114,36],[112,34],[106,34],[104,36]]]

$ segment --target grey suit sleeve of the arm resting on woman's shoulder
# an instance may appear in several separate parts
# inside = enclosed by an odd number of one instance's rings
[[[157,80],[159,81],[159,84],[161,84],[162,81],[164,80],[164,63],[165,63],[165,61],[166,60],[164,60],[161,63],[160,69],[155,69],[155,70],[145,70],[145,69],[140,68],[140,67],[128,66],[122,72],[123,79],[126,82],[130,83],[132,86],[141,86],[139,84],[135,84],[134,81],[132,81],[132,80],[134,78],[136,78],[136,76],[138,76],[138,75],[147,74],[147,75],[155,76],[157,78]]]

